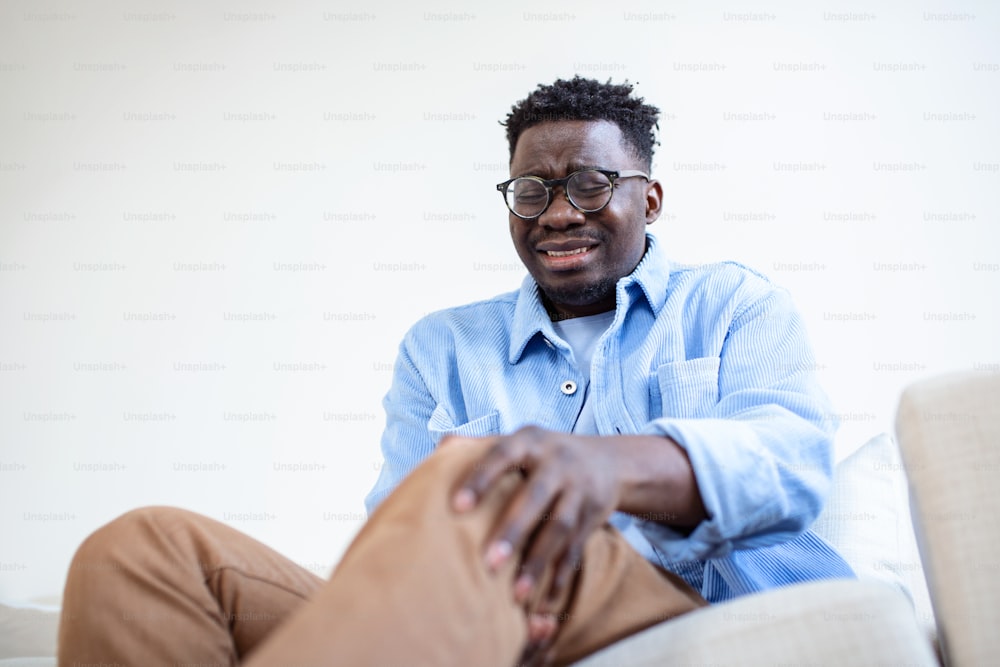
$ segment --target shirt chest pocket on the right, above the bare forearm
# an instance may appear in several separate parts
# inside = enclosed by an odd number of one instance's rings
[[[652,413],[662,417],[707,417],[719,402],[719,357],[672,361],[650,378]]]

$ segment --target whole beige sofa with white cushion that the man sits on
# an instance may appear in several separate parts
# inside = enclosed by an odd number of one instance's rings
[[[858,579],[713,605],[577,666],[995,664],[997,480],[1000,374],[917,382],[900,399],[896,438],[879,434],[838,463],[814,526]],[[56,607],[0,605],[0,667],[55,665],[57,624]]]

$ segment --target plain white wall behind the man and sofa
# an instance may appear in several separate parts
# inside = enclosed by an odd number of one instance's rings
[[[0,597],[57,595],[88,533],[153,503],[325,574],[404,331],[521,280],[497,120],[559,76],[661,107],[653,230],[791,290],[839,455],[910,381],[1000,369],[998,17],[4,0]]]

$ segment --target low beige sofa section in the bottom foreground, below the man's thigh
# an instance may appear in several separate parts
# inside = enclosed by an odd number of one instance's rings
[[[838,579],[778,588],[685,614],[576,667],[938,665],[909,600]]]

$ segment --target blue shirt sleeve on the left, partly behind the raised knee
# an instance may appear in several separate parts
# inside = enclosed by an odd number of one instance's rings
[[[386,427],[382,433],[382,468],[365,497],[369,516],[393,489],[434,450],[428,430],[436,401],[413,363],[412,332],[403,339],[393,368],[392,385],[382,400]]]

